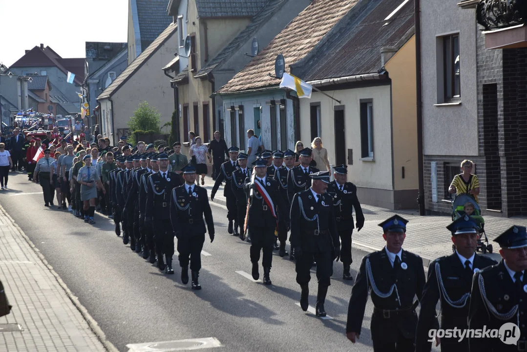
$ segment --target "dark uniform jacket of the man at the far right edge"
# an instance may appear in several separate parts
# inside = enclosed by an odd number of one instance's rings
[[[472,281],[469,308],[469,329],[500,329],[506,322],[520,327],[520,339],[516,345],[505,345],[499,338],[470,338],[470,351],[519,351],[525,350],[527,339],[527,270],[523,273],[520,289],[505,268],[503,259],[499,264],[476,272]],[[518,328],[516,328],[518,329]],[[518,332],[516,331],[516,334]],[[520,349],[523,348],[523,349]]]

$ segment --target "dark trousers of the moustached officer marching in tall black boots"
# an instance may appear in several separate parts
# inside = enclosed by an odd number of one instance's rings
[[[301,255],[295,252],[295,270],[297,283],[300,286],[308,284],[311,280],[311,264],[313,259],[317,262],[317,280],[321,286],[330,286],[330,278],[333,275],[333,260],[330,251],[304,252]]]

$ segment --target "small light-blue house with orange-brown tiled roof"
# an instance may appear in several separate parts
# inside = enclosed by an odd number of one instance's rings
[[[267,149],[293,149],[300,139],[300,113],[294,94],[279,88],[275,60],[285,70],[305,58],[357,4],[356,0],[314,0],[272,39],[256,58],[218,90],[223,99],[225,138],[246,149],[248,129],[261,135]]]

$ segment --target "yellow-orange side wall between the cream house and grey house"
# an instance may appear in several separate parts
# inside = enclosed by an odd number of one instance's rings
[[[418,187],[415,36],[385,64],[392,79],[395,190]],[[402,167],[405,178],[402,178]]]

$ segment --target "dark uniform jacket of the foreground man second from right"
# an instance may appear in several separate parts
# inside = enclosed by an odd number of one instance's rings
[[[428,265],[428,278],[421,299],[419,324],[417,325],[416,351],[430,351],[428,331],[437,329],[436,305],[441,300],[441,328],[466,329],[469,316],[470,291],[474,271],[497,264],[496,261],[482,255],[474,255],[472,271],[467,272],[457,252],[445,255]],[[469,340],[442,339],[442,350],[448,352],[466,352]]]

